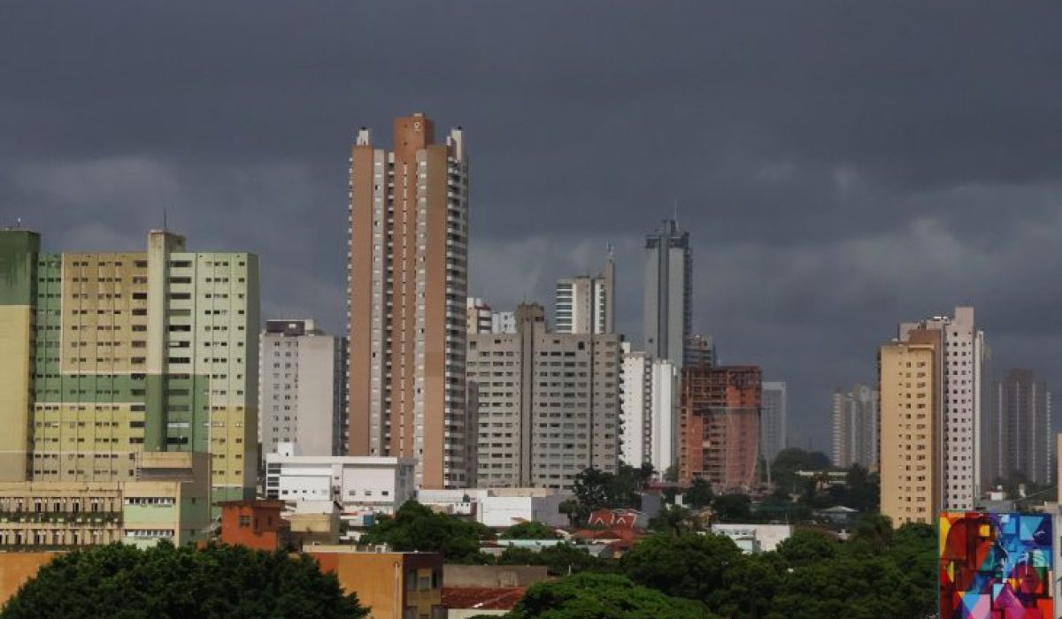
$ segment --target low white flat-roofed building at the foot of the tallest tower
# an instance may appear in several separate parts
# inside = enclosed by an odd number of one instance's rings
[[[393,514],[416,494],[415,466],[412,458],[299,455],[285,443],[266,455],[266,496]]]

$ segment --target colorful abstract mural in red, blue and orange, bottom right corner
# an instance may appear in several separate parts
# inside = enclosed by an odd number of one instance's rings
[[[1052,539],[1047,514],[942,513],[941,619],[1052,619]]]

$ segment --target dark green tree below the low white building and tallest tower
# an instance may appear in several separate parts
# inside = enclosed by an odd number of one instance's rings
[[[478,522],[436,514],[406,501],[394,516],[383,516],[361,537],[362,544],[389,544],[397,551],[439,552],[448,562],[482,563],[480,540],[493,533]]]

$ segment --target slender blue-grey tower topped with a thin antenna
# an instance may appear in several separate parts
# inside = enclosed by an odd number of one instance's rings
[[[689,233],[674,220],[646,237],[645,345],[654,359],[682,367],[692,320]]]

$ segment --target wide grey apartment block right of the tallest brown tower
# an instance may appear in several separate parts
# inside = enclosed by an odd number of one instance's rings
[[[619,465],[619,336],[550,333],[541,305],[516,310],[515,333],[469,336],[480,487],[570,491],[585,468]]]

